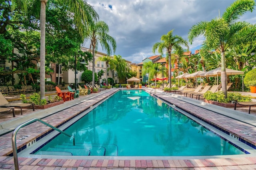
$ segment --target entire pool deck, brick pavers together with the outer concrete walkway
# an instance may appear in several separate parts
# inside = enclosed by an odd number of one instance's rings
[[[94,93],[91,95],[80,96],[79,98],[67,101],[61,106],[52,107],[46,110],[31,111],[27,109],[23,115],[18,115],[13,118],[9,113],[11,119],[1,119],[1,134],[0,136],[0,169],[14,169],[14,161],[12,156],[7,156],[12,153],[11,136],[9,131],[16,128],[17,125],[23,123],[26,120],[30,120],[34,117],[42,118],[42,120],[50,123],[53,126],[58,126],[68,120],[70,117],[74,117],[81,111],[90,108],[92,105],[98,103],[105,97],[112,95],[117,89],[110,89],[102,91],[100,93]],[[145,89],[150,91],[151,89]],[[248,94],[248,93],[246,93]],[[177,109],[184,109],[190,114],[195,115],[198,119],[205,120],[212,123],[215,127],[221,127],[230,133],[236,134],[239,138],[250,141],[252,144],[256,144],[256,115],[249,115],[248,112],[234,111],[234,108],[227,109],[210,105],[196,99],[190,99],[188,97],[182,97],[180,95],[174,95],[157,91],[157,97],[165,100],[169,103],[175,104]],[[252,94],[254,95],[254,94]],[[255,94],[256,97],[256,94]],[[254,108],[253,108],[254,109]],[[16,109],[17,110],[17,109]],[[242,129],[250,134],[250,136],[244,135],[241,131],[235,130],[235,128]],[[38,138],[38,136],[48,131],[49,128],[33,123],[20,129],[17,138],[22,137],[24,134],[30,134],[26,141],[19,142],[17,147],[21,148],[26,145],[27,142],[31,142]],[[189,170],[201,170],[201,169],[256,169],[256,154],[238,155],[238,156],[213,156],[206,158],[163,158],[153,157],[148,158],[126,158],[116,157],[109,159],[102,158],[90,158],[90,159],[71,159],[71,158],[24,158],[19,157],[20,169],[24,170],[54,170],[54,169],[78,169],[78,170],[119,170],[119,169],[189,169]]]

